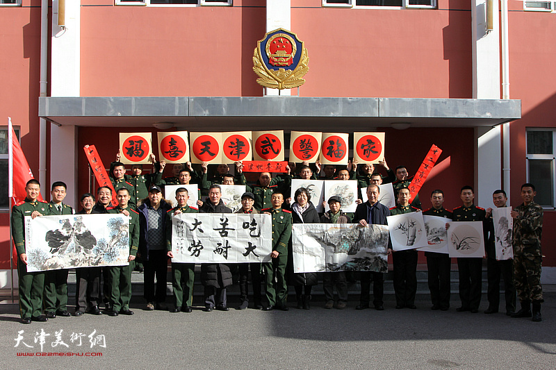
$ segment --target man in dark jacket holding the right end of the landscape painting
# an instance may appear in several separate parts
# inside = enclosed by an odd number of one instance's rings
[[[383,205],[378,201],[379,192],[380,190],[377,185],[368,185],[368,201],[357,205],[353,218],[354,223],[359,223],[361,226],[367,226],[368,224],[387,224],[386,217],[390,216],[390,210],[386,207],[386,205]],[[389,248],[388,254],[391,253],[392,249]],[[355,308],[356,310],[369,308],[371,274],[373,276],[373,304],[375,305],[375,310],[384,310],[384,302],[382,301],[384,296],[384,274],[377,271],[361,272],[361,298],[359,305]]]

